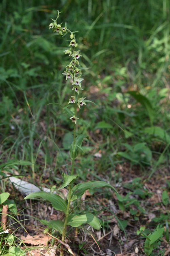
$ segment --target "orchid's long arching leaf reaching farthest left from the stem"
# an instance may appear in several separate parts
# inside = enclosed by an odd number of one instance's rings
[[[54,207],[54,209],[66,212],[66,209],[67,209],[66,202],[64,201],[63,198],[61,198],[58,195],[47,193],[44,191],[39,191],[39,192],[31,193],[30,195],[26,196],[24,199],[33,199],[35,197],[43,198],[44,200],[49,201]]]

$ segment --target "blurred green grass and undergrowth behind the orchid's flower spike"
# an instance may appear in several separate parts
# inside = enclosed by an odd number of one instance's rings
[[[77,172],[112,170],[123,159],[148,166],[152,174],[158,165],[167,166],[169,5],[168,0],[2,0],[1,158],[31,160],[41,174],[52,165],[55,173],[68,161],[72,124],[56,104],[48,105],[68,101],[62,75],[67,38],[48,29],[58,9],[69,28],[79,31],[84,96],[97,104],[79,112],[79,129],[91,142],[84,145]],[[103,152],[95,162],[89,155],[94,144]]]

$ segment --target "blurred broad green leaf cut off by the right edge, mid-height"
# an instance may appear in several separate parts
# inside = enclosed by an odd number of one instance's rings
[[[170,136],[161,127],[158,127],[158,126],[147,127],[144,129],[144,132],[148,133],[149,135],[152,135],[154,137],[158,137],[158,138],[166,141],[167,143],[170,143]]]

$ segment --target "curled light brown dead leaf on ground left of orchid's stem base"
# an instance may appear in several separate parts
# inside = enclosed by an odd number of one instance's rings
[[[21,236],[21,241],[26,244],[32,244],[32,245],[47,245],[48,241],[51,240],[51,237],[46,234],[39,234],[36,236],[30,236],[28,234],[27,237]]]

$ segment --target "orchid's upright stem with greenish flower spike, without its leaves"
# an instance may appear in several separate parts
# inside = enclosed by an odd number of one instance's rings
[[[81,86],[81,82],[84,80],[81,75],[82,75],[82,71],[79,68],[79,61],[78,59],[80,57],[82,57],[82,55],[80,54],[80,50],[79,51],[75,51],[75,48],[78,47],[78,44],[76,43],[76,39],[75,39],[75,32],[71,32],[68,28],[67,28],[67,23],[65,23],[65,27],[62,27],[62,24],[57,24],[57,19],[59,17],[60,12],[58,11],[58,15],[57,18],[53,20],[52,23],[50,23],[49,28],[53,29],[53,32],[58,33],[58,35],[63,35],[63,33],[70,33],[70,43],[69,43],[69,49],[67,49],[65,52],[65,54],[69,54],[69,56],[72,57],[71,62],[69,63],[69,65],[66,66],[66,70],[64,71],[64,75],[66,76],[66,80],[70,80],[70,82],[72,83],[72,91],[74,91],[74,96],[71,96],[69,98],[69,104],[74,105],[74,111],[73,111],[73,116],[70,117],[70,120],[73,122],[73,151],[75,150],[76,145],[76,125],[77,125],[77,120],[79,119],[77,117],[77,107],[80,109],[83,105],[86,105],[85,103],[85,98],[80,98],[79,94],[80,92],[83,90],[82,86]],[[63,35],[64,36],[64,35]],[[72,163],[71,163],[71,175],[74,175],[74,163],[75,163],[75,156],[72,157]],[[68,195],[67,195],[67,209],[65,212],[65,220],[64,220],[64,224],[63,224],[63,232],[62,232],[62,242],[64,242],[65,237],[66,237],[66,229],[67,229],[67,223],[68,223],[68,216],[69,216],[69,211],[70,211],[70,202],[71,202],[71,188],[72,188],[72,184],[69,184],[68,187]],[[60,252],[60,256],[63,256],[63,247],[61,249]]]

